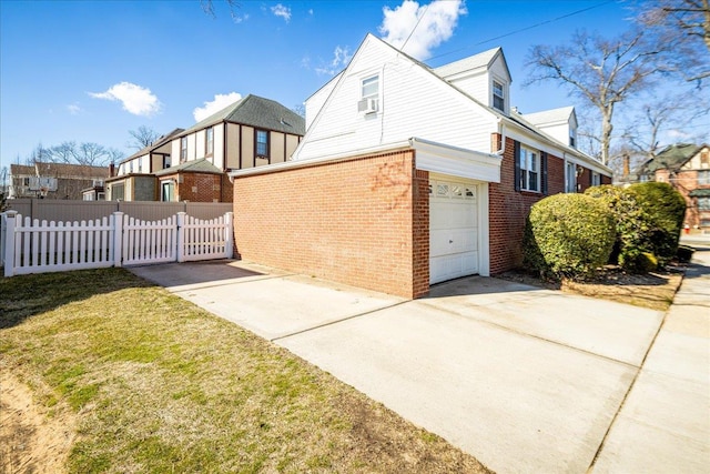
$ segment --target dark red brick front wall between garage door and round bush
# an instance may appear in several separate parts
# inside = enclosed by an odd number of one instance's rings
[[[552,154],[547,158],[547,190],[548,194],[565,190],[565,161]],[[491,274],[521,265],[525,221],[530,206],[542,198],[536,192],[515,191],[514,141],[506,138],[500,183],[488,186]]]

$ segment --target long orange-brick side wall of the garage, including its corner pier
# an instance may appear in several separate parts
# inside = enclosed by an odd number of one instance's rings
[[[407,150],[236,178],[237,255],[420,296],[429,278],[428,174],[413,170]]]

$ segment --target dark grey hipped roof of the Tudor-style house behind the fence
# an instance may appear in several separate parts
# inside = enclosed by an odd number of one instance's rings
[[[181,135],[186,135],[220,122],[241,123],[257,129],[274,130],[295,135],[303,135],[306,132],[305,120],[293,110],[274,100],[248,94],[230,107],[195,123],[182,132]]]

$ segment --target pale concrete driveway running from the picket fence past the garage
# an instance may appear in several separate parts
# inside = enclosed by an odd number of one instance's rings
[[[501,473],[621,465],[602,442],[665,317],[479,276],[407,301],[245,262],[132,271]]]

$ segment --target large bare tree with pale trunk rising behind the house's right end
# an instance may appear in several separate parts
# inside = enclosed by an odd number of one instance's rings
[[[665,70],[657,58],[667,46],[649,44],[643,31],[629,31],[610,40],[577,31],[564,46],[535,46],[528,54],[532,73],[526,84],[560,82],[599,112],[604,164],[609,162],[616,105],[650,87],[652,77]]]

